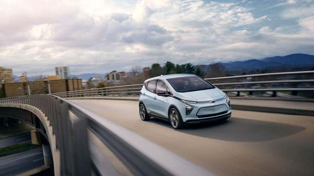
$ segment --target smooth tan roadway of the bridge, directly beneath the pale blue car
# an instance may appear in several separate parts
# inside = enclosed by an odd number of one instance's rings
[[[175,130],[144,122],[138,103],[71,100],[218,176],[313,176],[314,117],[234,110],[224,123]]]

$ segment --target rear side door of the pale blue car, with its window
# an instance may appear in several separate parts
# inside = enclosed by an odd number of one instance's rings
[[[156,83],[157,83],[157,80],[150,80],[148,83],[147,83],[147,87],[146,89],[148,91],[145,92],[144,96],[146,96],[146,103],[145,103],[145,106],[146,106],[146,110],[148,111],[148,113],[150,112],[154,112],[155,110],[155,99],[156,99],[156,94],[155,94],[155,90],[156,90]]]

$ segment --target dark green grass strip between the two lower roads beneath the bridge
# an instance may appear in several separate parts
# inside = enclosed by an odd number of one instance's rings
[[[28,142],[28,143],[16,144],[16,145],[11,145],[8,147],[0,148],[0,157],[24,152],[24,151],[31,150],[36,147],[39,147],[39,146],[32,144],[31,142]]]

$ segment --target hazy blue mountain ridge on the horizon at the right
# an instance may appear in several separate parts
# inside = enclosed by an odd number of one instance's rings
[[[226,70],[261,70],[276,66],[311,66],[314,65],[314,55],[309,54],[290,54],[287,56],[274,56],[261,60],[250,59],[246,61],[235,61],[229,63],[220,63],[226,67]]]

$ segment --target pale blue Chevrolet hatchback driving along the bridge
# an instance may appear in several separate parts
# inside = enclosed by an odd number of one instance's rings
[[[144,82],[139,98],[142,120],[167,120],[173,128],[184,124],[225,120],[231,116],[229,97],[192,74],[162,75]]]

